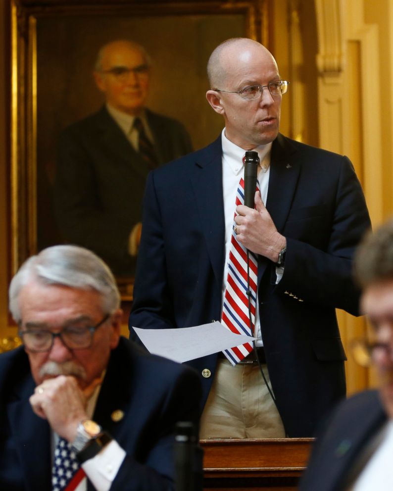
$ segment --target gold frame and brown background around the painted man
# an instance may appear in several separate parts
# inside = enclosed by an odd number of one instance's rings
[[[268,3],[11,1],[11,274],[27,257],[51,245],[50,239],[43,237],[50,238],[51,233],[56,237],[50,229],[50,169],[55,142],[61,129],[90,110],[89,104],[97,105],[99,94],[92,91],[91,66],[86,63],[89,59],[93,65],[97,47],[114,38],[113,32],[119,33],[120,38],[131,31],[138,32],[134,41],[148,45],[150,52],[155,46],[162,54],[165,33],[169,46],[166,52],[170,50],[171,59],[177,62],[171,69],[159,56],[161,83],[156,98],[151,100],[152,108],[180,119],[189,130],[194,147],[201,147],[210,143],[222,126],[221,119],[204,100],[208,54],[219,42],[239,35],[269,45]],[[71,62],[75,53],[81,54],[80,65]],[[185,62],[195,69],[188,77],[176,77],[176,70],[181,70],[179,66]],[[169,70],[166,73],[165,66]],[[178,84],[177,80],[183,78]],[[74,96],[72,100],[70,94]],[[78,98],[83,104],[78,103]],[[49,182],[47,188],[42,176]],[[133,278],[119,281],[124,298],[132,298],[132,285]]]

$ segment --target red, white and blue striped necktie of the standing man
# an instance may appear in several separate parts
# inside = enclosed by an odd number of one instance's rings
[[[258,188],[257,188],[258,189]],[[240,180],[236,194],[236,206],[244,204],[244,180]],[[235,217],[237,213],[235,211]],[[247,249],[241,245],[235,234],[236,222],[232,226],[231,246],[228,260],[227,286],[224,294],[221,324],[236,334],[253,336],[255,325],[255,301],[258,276],[258,261],[256,255],[249,251],[249,291],[251,303],[251,325],[248,315],[247,296]],[[253,349],[253,343],[240,344],[225,349],[223,353],[235,366],[243,360]]]

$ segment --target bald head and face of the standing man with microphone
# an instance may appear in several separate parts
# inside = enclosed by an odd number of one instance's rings
[[[244,150],[271,143],[278,135],[282,94],[271,94],[280,81],[276,60],[268,49],[247,38],[232,38],[211,54],[207,73],[211,89],[206,99],[225,121],[225,136]],[[246,87],[259,87],[256,98],[246,100]]]

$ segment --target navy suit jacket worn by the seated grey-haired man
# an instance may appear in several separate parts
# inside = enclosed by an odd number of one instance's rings
[[[50,430],[32,410],[35,383],[23,347],[0,355],[0,489],[51,490]],[[197,427],[196,373],[121,338],[110,356],[93,419],[126,451],[111,490],[174,489],[178,421]],[[121,409],[124,418],[111,419]],[[201,469],[200,469],[201,472]],[[89,482],[89,490],[93,490]]]

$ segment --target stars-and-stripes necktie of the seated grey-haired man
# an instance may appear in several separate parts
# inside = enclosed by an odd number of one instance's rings
[[[85,471],[71,450],[71,443],[59,438],[54,450],[52,491],[79,491],[86,489]]]

